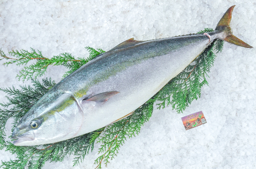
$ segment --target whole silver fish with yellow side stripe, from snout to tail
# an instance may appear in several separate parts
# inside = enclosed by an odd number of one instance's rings
[[[51,144],[92,132],[131,114],[186,68],[214,39],[252,48],[232,34],[231,6],[215,31],[128,39],[52,87],[12,133],[16,146]]]

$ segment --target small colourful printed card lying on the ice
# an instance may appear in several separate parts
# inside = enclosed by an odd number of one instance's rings
[[[181,120],[186,130],[189,130],[194,127],[198,127],[202,124],[207,123],[204,117],[204,113],[202,111],[193,113],[190,115],[186,115],[182,117]]]

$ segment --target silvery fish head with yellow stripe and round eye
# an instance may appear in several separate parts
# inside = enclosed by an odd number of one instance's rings
[[[83,122],[83,113],[70,93],[43,96],[21,118],[12,138],[15,146],[51,144],[75,137]]]

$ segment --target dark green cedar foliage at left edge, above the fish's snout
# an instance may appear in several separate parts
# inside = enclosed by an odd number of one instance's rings
[[[0,88],[1,91],[9,95],[6,96],[9,102],[0,103],[3,107],[2,109],[0,108],[0,149],[3,149],[6,145],[4,141],[6,137],[4,130],[7,120],[11,117],[14,119],[14,128],[20,118],[26,114],[33,104],[35,104],[49,88],[55,85],[55,82],[52,82],[51,79],[43,79],[42,83],[32,79],[32,83],[34,87],[20,86],[20,89],[15,89],[14,87]]]

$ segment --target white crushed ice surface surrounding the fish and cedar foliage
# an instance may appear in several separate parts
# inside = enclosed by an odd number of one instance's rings
[[[254,48],[225,42],[209,73],[209,86],[183,114],[172,107],[157,110],[138,136],[127,139],[109,169],[252,169],[256,168],[256,3],[254,0],[1,0],[0,48],[34,48],[43,56],[63,52],[87,57],[85,46],[110,50],[134,37],[150,40],[215,28],[224,12],[236,5],[231,20],[234,35]],[[0,61],[0,87],[23,85],[22,69]],[[49,66],[44,77],[59,82],[67,69]],[[24,82],[31,84],[30,82]],[[0,92],[0,101],[7,101]],[[207,124],[185,131],[181,117],[202,110]],[[11,121],[6,127],[10,134]],[[93,169],[95,149],[78,166],[73,156],[47,162],[44,169]],[[15,159],[0,150],[0,160]],[[104,166],[104,165],[102,165]],[[103,167],[105,168],[105,166]]]

